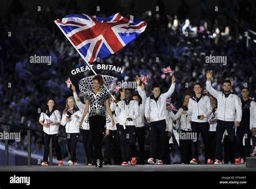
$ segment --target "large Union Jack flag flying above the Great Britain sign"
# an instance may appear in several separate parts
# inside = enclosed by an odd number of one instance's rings
[[[146,22],[120,13],[107,18],[79,13],[56,19],[55,23],[90,63],[119,51],[146,29]]]

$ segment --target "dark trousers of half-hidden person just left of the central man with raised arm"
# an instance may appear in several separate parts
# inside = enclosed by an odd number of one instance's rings
[[[145,136],[146,131],[145,127],[136,127],[135,128],[135,137],[138,139],[139,145],[139,161],[138,164],[144,164],[145,159]],[[132,157],[136,157],[136,145],[132,146]]]

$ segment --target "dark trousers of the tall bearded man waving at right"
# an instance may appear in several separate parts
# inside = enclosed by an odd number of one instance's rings
[[[234,129],[234,122],[233,121],[217,121],[216,127],[216,153],[215,159],[221,160],[223,157],[223,150],[221,141],[223,139],[223,134],[227,130],[228,138],[232,142],[232,148],[234,152],[234,157],[238,158],[239,155],[237,153],[237,140],[235,138],[235,129]]]

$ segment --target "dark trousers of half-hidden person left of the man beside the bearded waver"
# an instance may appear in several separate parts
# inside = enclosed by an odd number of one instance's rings
[[[192,139],[182,138],[183,135],[191,134],[191,131],[180,130],[179,147],[181,153],[181,163],[190,164],[192,159]]]

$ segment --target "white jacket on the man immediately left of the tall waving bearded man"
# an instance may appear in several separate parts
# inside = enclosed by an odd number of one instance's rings
[[[208,117],[211,115],[212,112],[212,106],[210,103],[210,98],[205,95],[201,96],[198,103],[197,103],[197,98],[196,96],[193,96],[190,98],[188,101],[188,110],[187,110],[187,116],[191,116],[191,120],[193,122],[198,122],[198,123],[204,123],[207,122]],[[204,115],[203,120],[199,120],[198,116]]]

